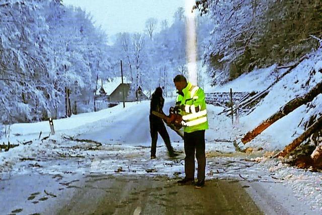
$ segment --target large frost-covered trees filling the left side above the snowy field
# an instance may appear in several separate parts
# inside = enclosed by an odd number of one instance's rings
[[[56,0],[7,1],[0,13],[0,122],[64,116],[65,88],[91,109],[93,77],[110,62],[89,15]]]

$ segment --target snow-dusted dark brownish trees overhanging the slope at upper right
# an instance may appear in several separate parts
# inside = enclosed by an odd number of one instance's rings
[[[275,62],[298,59],[317,48],[321,1],[200,0],[196,7],[214,24],[204,52],[213,84]]]

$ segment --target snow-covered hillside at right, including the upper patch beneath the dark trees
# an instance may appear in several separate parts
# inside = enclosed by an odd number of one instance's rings
[[[252,130],[262,121],[277,112],[287,102],[301,97],[322,81],[322,49],[318,49],[293,68],[279,82],[273,85],[269,93],[260,101],[256,109],[239,119],[239,135]],[[276,65],[264,69],[255,69],[252,73],[241,75],[226,85],[210,88],[208,92],[229,92],[235,89],[240,92],[261,92],[267,89],[286,68],[277,69]],[[307,105],[302,105],[287,116],[275,122],[247,146],[262,147],[267,150],[281,150],[291,140],[304,131],[304,124],[311,116],[322,114],[322,96],[317,96]],[[237,138],[237,137],[236,137]]]

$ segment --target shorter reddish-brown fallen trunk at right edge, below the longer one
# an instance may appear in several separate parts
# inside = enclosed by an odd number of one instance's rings
[[[309,137],[312,133],[322,128],[322,116],[320,116],[310,127],[307,128],[304,133],[302,133],[299,137],[294,139],[291,144],[287,145],[285,149],[280,152],[276,157],[285,157],[288,153],[292,152],[296,147],[298,147],[301,142],[303,142],[307,137]]]

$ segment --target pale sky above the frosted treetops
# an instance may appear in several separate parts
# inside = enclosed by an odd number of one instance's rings
[[[90,13],[97,26],[109,36],[118,32],[142,32],[148,18],[173,22],[177,8],[185,8],[185,0],[63,0],[68,6],[81,7]]]

